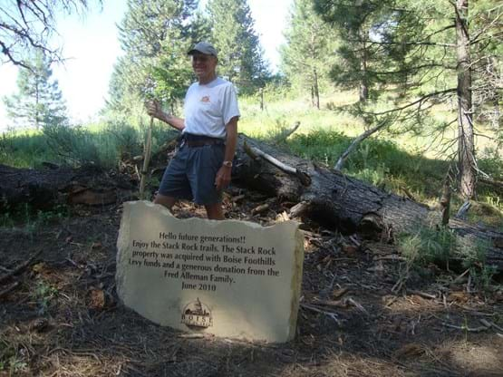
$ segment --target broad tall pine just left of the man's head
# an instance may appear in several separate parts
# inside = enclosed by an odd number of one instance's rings
[[[129,0],[128,6],[119,26],[125,54],[111,77],[109,108],[131,111],[154,96],[167,102],[179,100],[180,88],[191,80],[189,45],[198,33],[208,30],[204,20],[194,15],[197,1]]]

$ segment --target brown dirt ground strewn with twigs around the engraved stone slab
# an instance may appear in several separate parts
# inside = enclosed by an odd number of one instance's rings
[[[227,198],[230,218],[266,225],[285,209],[246,194],[244,204]],[[189,204],[175,213],[202,217]],[[397,294],[403,262],[392,246],[316,224],[301,226],[294,341],[190,338],[152,324],[115,293],[120,219],[121,205],[82,207],[0,228],[0,376],[503,376],[501,285],[477,290],[468,274],[431,266]]]

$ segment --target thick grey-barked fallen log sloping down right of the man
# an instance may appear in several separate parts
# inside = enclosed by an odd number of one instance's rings
[[[381,240],[392,240],[401,233],[415,234],[421,227],[441,227],[440,210],[377,189],[245,135],[239,135],[238,144],[236,182],[298,203],[292,208],[291,216],[312,218],[343,233],[356,232],[369,239]],[[255,153],[250,155],[247,150]],[[257,150],[260,153],[256,153]],[[449,227],[459,236],[459,247],[487,246],[488,264],[503,271],[503,234],[500,231],[471,225],[458,218],[451,218]]]

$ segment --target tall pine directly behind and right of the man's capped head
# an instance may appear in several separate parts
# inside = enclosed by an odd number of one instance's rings
[[[210,0],[208,14],[218,50],[218,73],[241,92],[254,92],[269,72],[247,0]]]

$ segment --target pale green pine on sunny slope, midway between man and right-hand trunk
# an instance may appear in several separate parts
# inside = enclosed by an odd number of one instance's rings
[[[314,13],[311,0],[295,0],[281,48],[282,71],[303,90],[311,92],[313,106],[320,108],[320,87],[329,82],[335,63],[335,33]]]

